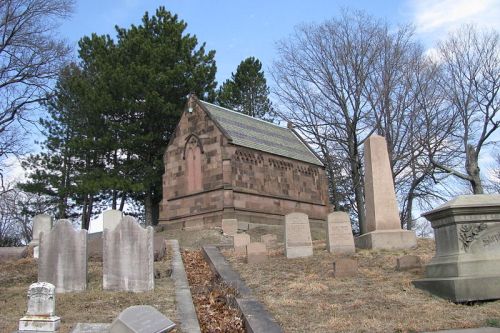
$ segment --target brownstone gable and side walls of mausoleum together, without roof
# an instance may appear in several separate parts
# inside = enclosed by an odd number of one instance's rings
[[[160,223],[189,228],[237,218],[282,224],[292,212],[326,220],[322,167],[233,145],[201,106],[187,110],[164,155]]]

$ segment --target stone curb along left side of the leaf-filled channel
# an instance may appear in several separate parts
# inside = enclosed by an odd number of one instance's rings
[[[172,249],[172,278],[175,284],[175,300],[179,310],[180,329],[186,333],[201,333],[191,289],[182,263],[179,242],[176,239],[169,239],[167,244]]]

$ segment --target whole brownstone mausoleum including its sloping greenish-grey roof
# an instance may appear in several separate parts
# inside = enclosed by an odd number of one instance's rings
[[[191,96],[164,155],[160,223],[220,225],[222,219],[283,224],[302,212],[325,221],[324,165],[291,128]]]

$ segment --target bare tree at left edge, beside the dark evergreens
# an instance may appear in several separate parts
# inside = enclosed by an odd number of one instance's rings
[[[0,161],[22,152],[13,123],[30,119],[69,54],[54,32],[72,7],[73,0],[0,1]]]

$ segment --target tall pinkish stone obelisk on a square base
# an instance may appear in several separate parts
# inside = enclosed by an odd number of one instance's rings
[[[406,249],[417,246],[414,231],[402,230],[387,144],[372,135],[365,142],[366,221],[356,246],[364,249]]]

